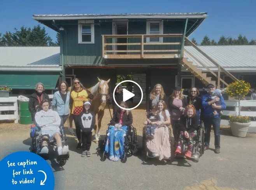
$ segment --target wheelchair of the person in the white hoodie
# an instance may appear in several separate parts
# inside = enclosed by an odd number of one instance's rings
[[[63,126],[60,126],[60,134],[61,134],[62,147],[68,145],[67,137],[66,137]],[[41,128],[36,126],[35,127],[35,133],[32,135],[31,132],[30,132],[30,137],[32,138],[32,149],[31,149],[32,152],[35,153],[35,154],[40,155],[45,160],[48,160],[49,159],[49,154],[39,154],[39,152],[41,150],[41,145],[42,145]],[[56,140],[55,139],[50,139],[49,145],[51,147],[57,146]],[[57,162],[61,166],[64,166],[68,159],[69,159],[69,152],[67,154],[58,155]]]

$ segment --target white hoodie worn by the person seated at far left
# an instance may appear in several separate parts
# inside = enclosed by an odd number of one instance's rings
[[[53,120],[56,122],[53,123]],[[42,127],[46,126],[44,129],[55,131],[60,127],[61,119],[58,112],[49,109],[47,112],[41,110],[35,114],[35,121],[37,122],[37,126]]]

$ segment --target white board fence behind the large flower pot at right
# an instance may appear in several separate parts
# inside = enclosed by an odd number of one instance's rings
[[[224,116],[238,116],[238,100],[225,100],[227,107],[234,107],[234,111],[224,110]],[[254,117],[256,119],[256,100],[241,100],[241,116]],[[230,125],[229,120],[221,119],[222,125]],[[256,121],[251,121],[251,125],[249,127],[248,133],[256,133]]]

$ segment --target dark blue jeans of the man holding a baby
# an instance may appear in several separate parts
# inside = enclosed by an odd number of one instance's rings
[[[205,126],[205,147],[209,147],[210,143],[210,130],[211,127],[213,127],[214,130],[214,145],[215,148],[220,148],[220,142],[221,142],[221,135],[219,132],[219,129],[221,127],[221,118],[205,118],[203,121]]]

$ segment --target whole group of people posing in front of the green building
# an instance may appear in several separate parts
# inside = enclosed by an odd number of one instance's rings
[[[225,109],[226,105],[221,95],[214,94],[216,90],[214,85],[209,84],[207,88],[209,93],[202,97],[196,88],[192,88],[186,98],[182,94],[181,88],[177,86],[172,95],[167,98],[163,87],[160,84],[155,85],[146,102],[147,121],[144,124],[147,125],[147,141],[154,142],[157,128],[161,126],[168,127],[172,124],[172,132],[177,142],[175,153],[179,154],[181,152],[181,145],[186,140],[188,141],[186,157],[191,157],[193,137],[196,135],[200,120],[203,120],[205,124],[205,150],[209,149],[210,130],[211,126],[213,126],[215,152],[219,153],[220,111]],[[118,161],[123,158],[124,136],[128,126],[133,122],[133,117],[130,110],[121,109],[114,103],[114,97],[117,104],[122,108],[128,108],[127,103],[122,101],[121,85],[117,86],[116,92],[108,96],[108,103],[113,106],[113,117],[110,121],[111,125],[108,129],[107,144],[105,146],[105,151],[109,153],[109,159]],[[35,92],[30,97],[29,110],[32,114],[32,121],[42,130],[43,143],[41,153],[48,153],[47,146],[51,138],[56,139],[58,154],[65,154],[68,151],[68,147],[61,146],[58,127],[65,124],[70,109],[78,139],[77,149],[82,148],[82,157],[91,156],[89,150],[95,125],[95,115],[90,110],[91,100],[93,100],[93,94],[84,88],[77,78],[72,81],[70,92],[68,91],[67,82],[62,81],[58,91],[54,93],[52,103],[49,100],[49,96],[44,92],[44,85],[42,83],[36,85]],[[57,112],[50,109],[51,107],[53,109],[56,108]],[[199,115],[200,118],[198,118]],[[154,157],[160,157],[158,149],[160,147],[154,147]]]

